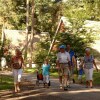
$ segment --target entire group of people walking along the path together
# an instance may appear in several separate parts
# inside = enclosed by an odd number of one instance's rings
[[[57,53],[57,60],[56,60],[56,68],[58,70],[61,89],[68,90],[68,87],[70,87],[70,79],[72,79],[73,83],[75,83],[74,69],[76,63],[77,62],[75,54],[74,51],[71,50],[70,44],[67,44],[66,46],[61,45],[59,47],[59,52]],[[83,69],[86,76],[86,87],[90,88],[93,87],[93,65],[98,71],[94,57],[90,53],[90,48],[86,48],[85,55],[83,59],[81,59],[81,63],[79,64],[79,79],[81,79],[83,73],[82,69]],[[15,92],[19,92],[22,69],[24,68],[22,53],[19,49],[15,50],[15,55],[11,59],[11,66],[13,68]],[[44,64],[42,65],[42,74],[43,74],[44,85],[47,84],[48,86],[50,85],[49,72],[50,72],[50,64],[49,60],[46,59],[44,61]]]

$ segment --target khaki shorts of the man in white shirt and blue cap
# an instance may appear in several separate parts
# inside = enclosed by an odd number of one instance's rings
[[[68,64],[60,64],[60,68],[58,69],[59,76],[69,75],[69,65]]]

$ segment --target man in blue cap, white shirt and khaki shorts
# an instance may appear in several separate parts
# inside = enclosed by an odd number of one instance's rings
[[[60,52],[57,54],[57,69],[59,74],[60,88],[67,90],[67,80],[70,67],[70,54],[66,52],[65,45],[59,47]]]

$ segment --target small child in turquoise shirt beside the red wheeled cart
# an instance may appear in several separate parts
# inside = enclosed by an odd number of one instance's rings
[[[42,74],[43,74],[44,87],[45,87],[45,84],[47,84],[47,87],[50,86],[49,71],[50,71],[50,64],[48,62],[48,59],[46,59],[44,61],[44,64],[42,65]]]

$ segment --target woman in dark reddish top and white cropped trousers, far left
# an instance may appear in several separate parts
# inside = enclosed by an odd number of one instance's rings
[[[22,53],[19,49],[15,50],[15,56],[12,57],[11,59],[11,65],[13,69],[13,75],[14,75],[14,87],[15,87],[15,92],[20,91],[20,82],[21,82],[21,77],[22,77],[22,67],[23,67],[23,57]]]

